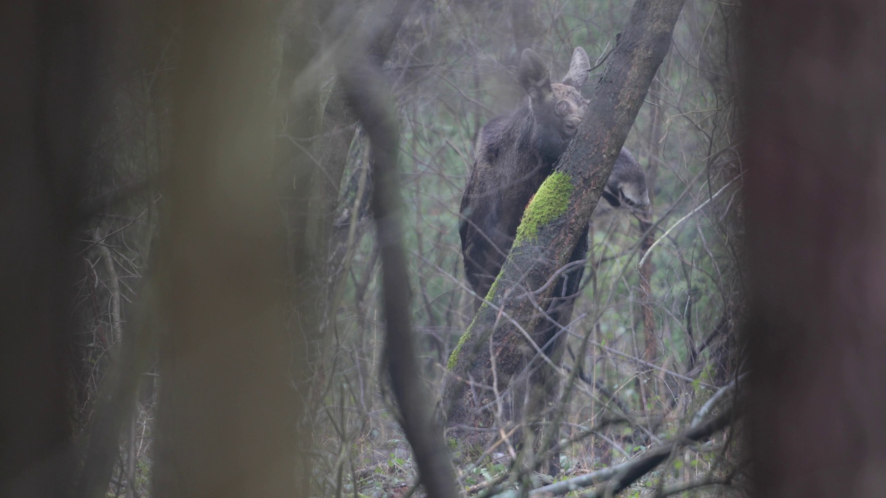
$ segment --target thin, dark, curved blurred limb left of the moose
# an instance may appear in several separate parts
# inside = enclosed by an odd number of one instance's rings
[[[431,409],[431,396],[422,385],[409,320],[409,279],[400,226],[400,189],[397,171],[398,126],[392,114],[386,82],[361,54],[342,61],[339,79],[348,104],[363,124],[372,147],[375,188],[372,212],[382,260],[387,337],[385,361],[394,396],[400,406],[403,431],[416,455],[419,477],[431,497],[459,496],[455,470]]]

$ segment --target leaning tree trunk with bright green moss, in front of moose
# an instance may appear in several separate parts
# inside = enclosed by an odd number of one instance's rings
[[[544,329],[539,325],[554,290],[548,280],[569,261],[585,233],[649,83],[668,51],[682,5],[683,0],[638,0],[633,5],[575,139],[526,208],[508,260],[486,297],[490,303],[480,307],[449,359],[453,376],[445,387],[444,402],[447,423],[453,428],[450,435],[468,437],[462,426],[490,427],[492,412],[477,407],[494,401],[494,393],[507,388],[511,377],[520,374],[550,339],[536,333]],[[496,389],[465,389],[467,380],[495,384]]]

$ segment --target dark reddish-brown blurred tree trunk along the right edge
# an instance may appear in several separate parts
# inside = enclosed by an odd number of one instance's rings
[[[759,496],[886,488],[886,4],[747,5]]]

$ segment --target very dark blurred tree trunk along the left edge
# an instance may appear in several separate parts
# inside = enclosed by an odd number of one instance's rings
[[[0,496],[73,485],[74,258],[105,5],[0,7]]]

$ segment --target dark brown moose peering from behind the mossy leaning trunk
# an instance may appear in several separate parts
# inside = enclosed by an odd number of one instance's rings
[[[483,303],[501,266],[508,257],[517,236],[517,227],[525,207],[542,182],[554,171],[566,146],[575,136],[585,116],[588,101],[579,89],[587,81],[590,61],[584,49],[572,52],[569,72],[560,83],[551,83],[548,66],[539,54],[526,49],[520,58],[518,79],[528,96],[509,114],[487,122],[478,131],[474,148],[474,164],[462,197],[459,233],[465,273],[477,298],[474,311]],[[649,205],[646,177],[630,152],[622,149],[602,192],[592,217],[621,206]],[[583,228],[579,244],[571,253],[570,262],[587,257],[589,226]],[[553,298],[545,308],[546,319],[532,339],[554,362],[563,352],[562,330],[571,315],[579,292],[584,266],[571,264],[556,280]],[[532,352],[532,348],[529,349]],[[520,376],[513,393],[505,403],[508,418],[520,413],[540,415],[540,402],[553,401],[559,391],[559,377],[538,357],[526,364],[529,376]],[[508,383],[502,376],[498,383]],[[526,385],[525,381],[529,384]],[[513,385],[513,384],[511,384]],[[527,389],[528,388],[528,389]],[[521,401],[521,398],[523,401]],[[525,405],[525,403],[529,403]],[[535,427],[537,431],[538,426]],[[517,439],[519,437],[515,436]],[[557,457],[548,463],[557,467]]]

